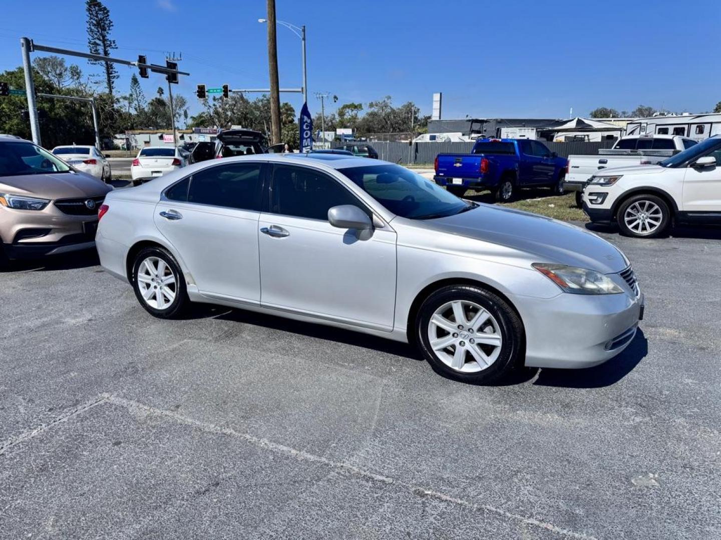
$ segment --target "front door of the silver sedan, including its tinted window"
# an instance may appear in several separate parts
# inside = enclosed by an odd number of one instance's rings
[[[261,305],[323,320],[392,330],[396,233],[346,230],[328,210],[370,210],[338,179],[314,168],[273,167],[267,212],[260,215]]]

